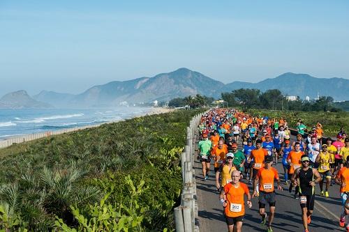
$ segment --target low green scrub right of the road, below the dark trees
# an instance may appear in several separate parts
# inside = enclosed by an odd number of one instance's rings
[[[248,114],[253,116],[269,116],[269,118],[286,118],[290,127],[296,127],[299,118],[308,129],[316,123],[322,124],[325,136],[335,137],[341,127],[349,128],[349,112],[324,112],[324,111],[280,111],[267,109],[248,109]]]

